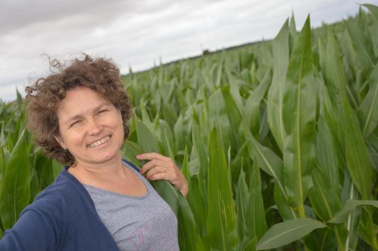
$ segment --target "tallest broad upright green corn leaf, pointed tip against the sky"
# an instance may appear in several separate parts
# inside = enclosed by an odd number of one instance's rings
[[[315,159],[316,89],[312,66],[308,17],[290,56],[283,94],[285,190],[301,218],[305,217],[303,201],[312,185],[310,173]]]

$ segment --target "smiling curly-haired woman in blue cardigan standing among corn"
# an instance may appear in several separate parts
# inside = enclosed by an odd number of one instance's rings
[[[66,164],[23,210],[0,250],[179,250],[177,219],[147,179],[186,196],[172,159],[145,153],[140,170],[121,159],[132,108],[118,68],[85,56],[27,87],[28,129],[50,158]]]

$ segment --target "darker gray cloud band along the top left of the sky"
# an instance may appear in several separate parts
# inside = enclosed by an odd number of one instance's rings
[[[80,20],[75,28],[86,25],[106,25],[119,15],[130,17],[159,11],[172,5],[170,1],[147,0],[13,0],[3,2],[0,9],[2,34],[35,24],[55,23],[70,19]]]

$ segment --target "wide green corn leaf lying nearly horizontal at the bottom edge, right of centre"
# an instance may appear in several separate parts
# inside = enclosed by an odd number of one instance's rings
[[[256,250],[277,248],[289,244],[317,228],[326,227],[313,219],[296,219],[272,226],[257,243]]]

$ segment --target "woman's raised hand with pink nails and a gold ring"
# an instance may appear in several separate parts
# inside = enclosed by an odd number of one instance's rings
[[[141,160],[150,159],[140,170],[141,174],[147,172],[147,179],[167,180],[186,197],[188,194],[188,182],[171,158],[156,152],[139,154],[137,158]]]

